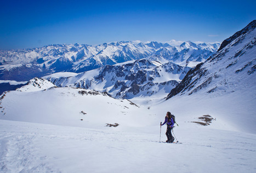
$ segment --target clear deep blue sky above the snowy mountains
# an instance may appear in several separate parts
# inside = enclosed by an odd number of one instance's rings
[[[0,0],[0,49],[136,40],[222,42],[256,19],[255,7],[255,0]]]

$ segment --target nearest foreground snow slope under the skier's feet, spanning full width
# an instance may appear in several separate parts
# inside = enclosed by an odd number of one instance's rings
[[[159,134],[0,120],[0,172],[255,172],[255,135],[188,131],[175,129],[182,143],[170,144]]]

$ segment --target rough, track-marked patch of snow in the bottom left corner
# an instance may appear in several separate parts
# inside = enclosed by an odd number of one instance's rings
[[[6,132],[6,131],[3,131]],[[1,172],[58,172],[49,168],[45,156],[36,155],[36,134],[1,131]]]

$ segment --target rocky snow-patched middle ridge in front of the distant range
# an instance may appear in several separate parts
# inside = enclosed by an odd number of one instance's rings
[[[146,59],[107,65],[83,73],[55,73],[45,76],[55,85],[94,89],[115,98],[132,99],[138,96],[167,95],[184,78],[190,67],[172,62],[161,64]]]

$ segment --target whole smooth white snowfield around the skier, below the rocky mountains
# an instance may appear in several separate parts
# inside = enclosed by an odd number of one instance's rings
[[[239,102],[232,94],[221,101],[185,96],[138,107],[95,93],[56,87],[5,93],[0,105],[0,172],[256,170],[256,132],[247,125],[255,122],[253,108],[240,118],[249,101]],[[225,99],[242,105],[231,106],[235,110],[229,112]],[[180,143],[159,142],[167,111],[176,116],[174,134]],[[209,126],[191,123],[207,114],[213,118]],[[166,141],[165,131],[163,126],[161,141]]]

